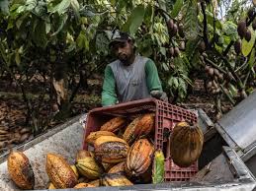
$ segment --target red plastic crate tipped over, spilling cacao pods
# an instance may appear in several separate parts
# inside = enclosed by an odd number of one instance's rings
[[[165,133],[170,133],[175,124],[180,121],[197,122],[197,115],[187,109],[155,98],[144,98],[113,106],[95,108],[87,115],[84,138],[91,132],[98,131],[101,125],[114,116],[128,117],[129,115],[148,112],[155,112],[154,146],[156,149],[162,150],[165,156],[165,181],[189,180],[197,173],[198,162],[186,168],[176,165],[171,159],[169,142],[164,136]],[[88,150],[88,145],[85,142],[83,148]]]

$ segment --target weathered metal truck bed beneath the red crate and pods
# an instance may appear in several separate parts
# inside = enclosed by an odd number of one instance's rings
[[[16,150],[24,151],[31,161],[35,173],[36,190],[45,190],[49,183],[45,172],[45,156],[47,153],[59,154],[68,159],[70,164],[74,163],[77,150],[82,148],[83,122],[85,119],[85,114],[79,115],[63,125],[49,130],[33,141],[16,148]],[[9,177],[7,157],[8,154],[5,154],[0,158],[0,190],[20,190]],[[86,188],[86,190],[253,190],[255,185],[255,178],[244,162],[232,149],[225,147],[221,155],[203,167],[190,182],[98,187]],[[62,190],[70,191],[74,189]]]

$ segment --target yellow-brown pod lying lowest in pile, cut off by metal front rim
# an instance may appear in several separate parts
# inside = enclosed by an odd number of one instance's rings
[[[108,173],[102,178],[104,186],[128,186],[133,185],[125,175],[119,173]]]

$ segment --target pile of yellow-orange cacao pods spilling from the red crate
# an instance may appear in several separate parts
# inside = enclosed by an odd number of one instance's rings
[[[78,151],[74,163],[56,154],[46,155],[45,169],[49,178],[46,187],[84,188],[162,182],[164,156],[161,151],[155,151],[150,141],[149,134],[153,130],[152,113],[135,116],[131,120],[112,118],[99,131],[89,133],[85,142],[93,149]],[[154,168],[157,172],[152,174]],[[8,170],[18,187],[34,188],[34,172],[23,153],[12,152],[9,155]]]

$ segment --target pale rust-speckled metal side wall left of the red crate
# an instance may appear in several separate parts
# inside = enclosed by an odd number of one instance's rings
[[[49,137],[44,135],[39,140],[34,140],[34,146],[27,149],[24,154],[30,159],[36,179],[35,189],[45,189],[48,185],[48,176],[45,171],[45,157],[47,153],[61,155],[67,159],[70,164],[74,163],[76,151],[82,148],[83,127],[79,122],[80,117],[76,117],[71,122],[56,127],[61,129],[54,132]],[[53,130],[55,131],[55,130]],[[7,162],[0,164],[0,190],[19,190],[11,181],[8,171]]]

